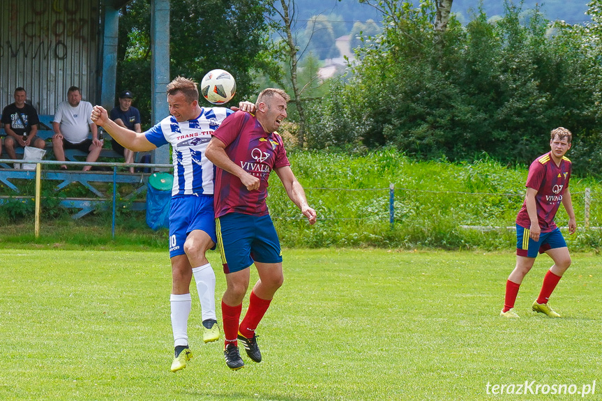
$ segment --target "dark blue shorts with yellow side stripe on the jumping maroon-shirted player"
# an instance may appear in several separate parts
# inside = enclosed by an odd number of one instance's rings
[[[228,213],[216,218],[216,231],[226,274],[244,270],[253,262],[283,261],[280,241],[270,215]]]

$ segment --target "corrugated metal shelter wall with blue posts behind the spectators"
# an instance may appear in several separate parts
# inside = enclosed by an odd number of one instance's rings
[[[27,91],[48,126],[67,89],[112,109],[115,102],[119,10],[130,0],[0,0],[0,107],[13,103],[17,86]],[[169,114],[170,1],[151,0],[151,123]],[[169,149],[153,162],[167,164]]]

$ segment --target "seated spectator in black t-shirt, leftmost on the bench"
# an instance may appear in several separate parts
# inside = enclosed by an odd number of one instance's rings
[[[32,105],[25,103],[27,93],[25,89],[19,86],[14,93],[15,103],[4,107],[2,110],[2,123],[6,131],[4,139],[4,147],[8,157],[15,160],[15,146],[35,146],[39,149],[44,149],[46,142],[44,139],[37,137],[38,133],[38,112]],[[1,152],[1,146],[0,146]],[[13,167],[18,169],[19,163],[14,163]]]

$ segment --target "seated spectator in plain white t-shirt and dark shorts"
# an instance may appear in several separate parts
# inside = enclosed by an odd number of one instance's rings
[[[91,103],[82,101],[80,88],[71,86],[67,91],[67,101],[59,104],[52,121],[52,149],[57,160],[65,161],[65,149],[87,152],[86,162],[98,160],[103,142],[98,139],[98,131],[90,118],[91,114]],[[92,139],[88,137],[89,130],[92,131]],[[84,171],[91,168],[84,166]],[[61,165],[61,169],[67,169],[67,166]]]

